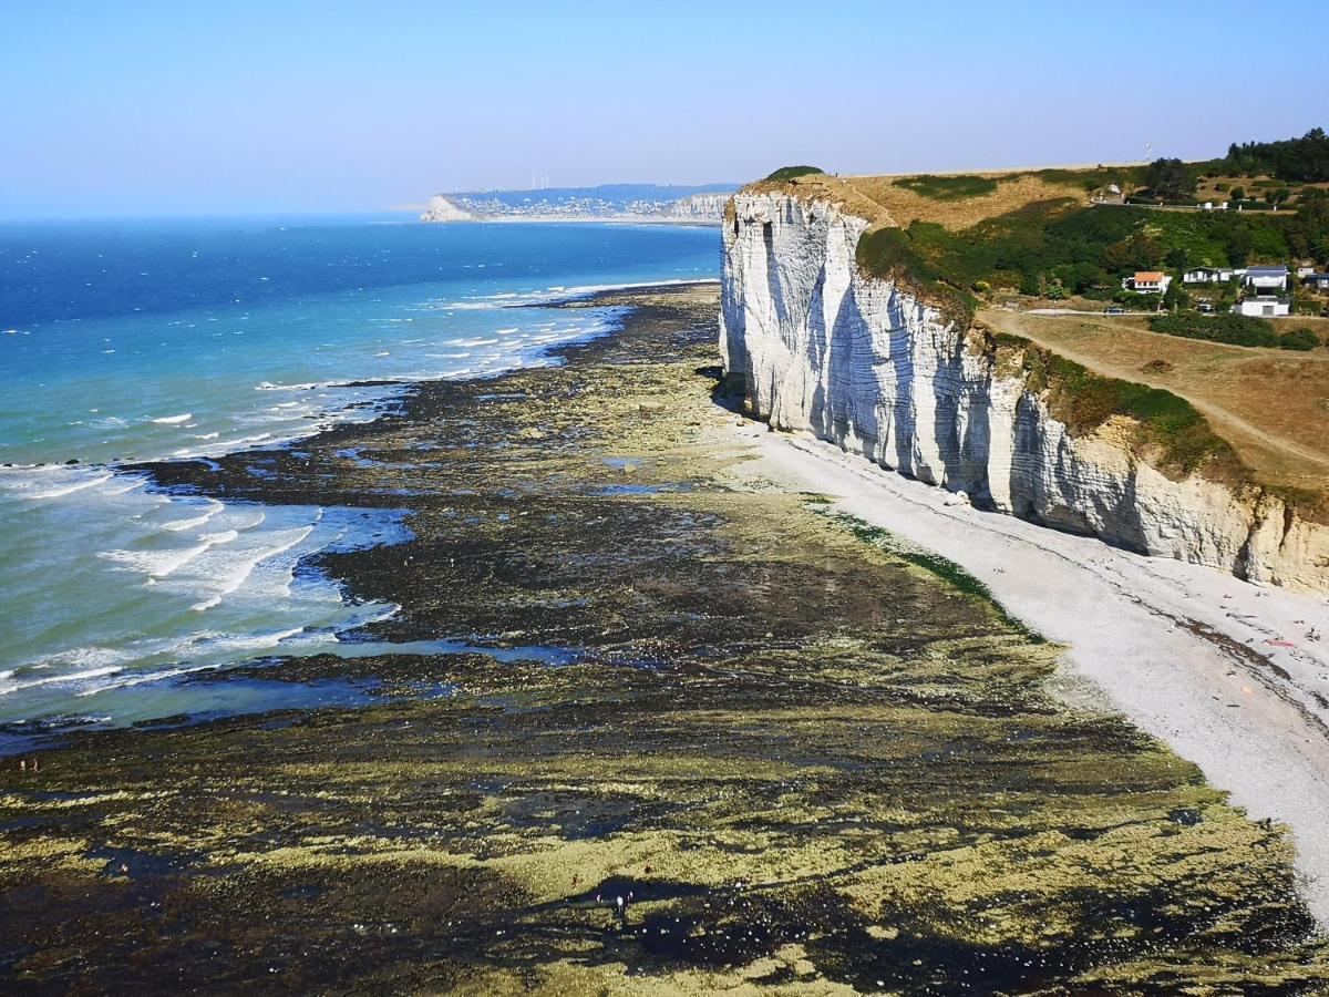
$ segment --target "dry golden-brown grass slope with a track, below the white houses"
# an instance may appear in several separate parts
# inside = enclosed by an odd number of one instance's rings
[[[987,308],[978,319],[1099,374],[1180,395],[1261,480],[1316,492],[1329,487],[1329,351],[1180,339],[1151,332],[1146,319],[1135,316]]]

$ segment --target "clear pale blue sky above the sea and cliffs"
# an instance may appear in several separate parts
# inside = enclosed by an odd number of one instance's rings
[[[0,217],[1208,157],[1329,125],[1313,9],[0,0]]]

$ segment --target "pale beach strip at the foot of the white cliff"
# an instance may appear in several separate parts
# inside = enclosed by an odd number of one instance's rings
[[[744,421],[746,476],[942,554],[1066,645],[1058,691],[1119,711],[1196,763],[1256,820],[1292,828],[1304,892],[1329,923],[1329,600],[981,512],[809,436]]]

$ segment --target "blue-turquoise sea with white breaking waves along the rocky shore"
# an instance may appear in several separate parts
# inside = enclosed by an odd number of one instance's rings
[[[674,225],[0,225],[0,752],[73,727],[363,701],[190,675],[355,653],[342,635],[396,606],[308,561],[401,542],[405,510],[173,495],[129,465],[298,447],[412,382],[553,363],[621,312],[544,306],[715,279],[719,251],[714,227]]]

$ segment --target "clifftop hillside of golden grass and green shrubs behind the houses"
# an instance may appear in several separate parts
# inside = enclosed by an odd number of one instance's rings
[[[821,199],[867,219],[870,227],[857,250],[867,273],[908,273],[938,303],[970,316],[1002,291],[1053,300],[1120,299],[1122,279],[1136,270],[1179,277],[1188,266],[1329,265],[1329,194],[1321,187],[1302,187],[1296,210],[1281,211],[1122,203],[1147,169],[812,173],[748,190]]]

